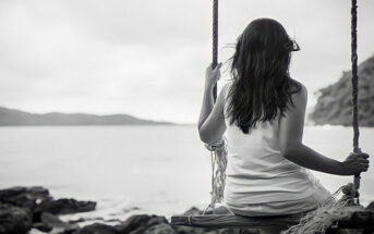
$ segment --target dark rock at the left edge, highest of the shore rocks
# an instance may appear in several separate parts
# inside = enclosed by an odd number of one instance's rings
[[[0,190],[0,202],[34,209],[44,200],[51,199],[48,189],[35,187],[11,187]]]

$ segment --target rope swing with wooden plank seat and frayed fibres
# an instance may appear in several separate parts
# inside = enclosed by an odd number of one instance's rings
[[[351,62],[352,62],[352,109],[353,109],[353,152],[360,153],[359,148],[359,122],[358,122],[358,54],[357,54],[357,0],[351,2]],[[218,0],[213,2],[213,62],[212,66],[217,66],[217,46],[218,46]],[[214,100],[217,98],[217,86],[213,90]],[[206,146],[212,153],[212,201],[206,208],[202,215],[173,215],[171,217],[171,224],[173,225],[185,225],[195,227],[206,229],[222,229],[222,227],[279,227],[285,230],[291,225],[300,227],[305,223],[313,220],[309,213],[297,213],[277,217],[242,217],[237,214],[215,214],[215,205],[222,202],[224,188],[225,188],[225,169],[226,169],[226,143],[220,140]],[[374,232],[374,210],[359,208],[359,193],[360,187],[360,175],[354,175],[353,184],[341,187],[334,195],[337,196],[339,192],[343,192],[347,197],[342,201],[337,201],[333,206],[336,206],[335,213],[338,212],[340,215],[330,218],[331,221],[328,226],[322,226],[323,231],[334,231],[339,229],[362,229],[364,233]],[[333,196],[334,196],[333,195]],[[339,204],[340,202],[340,204]],[[340,206],[340,207],[339,207]],[[352,209],[340,211],[341,208],[351,206]],[[372,205],[371,205],[372,206]],[[370,207],[371,207],[370,206]],[[212,208],[212,214],[206,214],[207,210]],[[326,205],[326,209],[331,209],[330,206]],[[314,211],[311,211],[313,213]],[[327,213],[327,211],[321,211]],[[345,213],[346,212],[346,213]],[[305,217],[306,214],[306,217]],[[333,213],[334,214],[334,213]],[[343,214],[343,215],[342,215]],[[328,214],[327,214],[328,215]],[[304,217],[304,218],[303,218]],[[341,217],[343,217],[341,219]],[[339,219],[340,218],[340,219]],[[299,225],[298,225],[299,224]],[[292,230],[288,233],[311,233],[305,231]],[[313,229],[312,229],[313,230]],[[313,232],[314,233],[314,232]],[[318,232],[319,233],[319,232]]]

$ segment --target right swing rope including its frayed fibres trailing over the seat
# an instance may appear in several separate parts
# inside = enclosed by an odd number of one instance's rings
[[[352,62],[352,127],[353,127],[353,152],[361,153],[359,147],[359,116],[358,116],[358,53],[357,53],[357,0],[352,0],[351,7],[351,62]],[[325,233],[335,221],[350,218],[354,211],[365,210],[359,201],[360,174],[354,175],[353,184],[340,187],[330,196],[318,209],[309,212],[303,217],[298,225],[285,231],[285,234],[302,233]],[[342,192],[345,195],[338,200],[337,197]]]

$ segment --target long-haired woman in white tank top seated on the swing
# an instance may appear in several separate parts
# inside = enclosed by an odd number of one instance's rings
[[[295,50],[299,47],[278,22],[258,19],[238,39],[232,82],[221,89],[216,104],[212,90],[221,64],[206,70],[198,132],[204,143],[226,133],[225,202],[233,213],[310,211],[330,194],[306,169],[336,175],[367,171],[366,153],[351,153],[340,162],[303,145],[306,88],[289,76]]]

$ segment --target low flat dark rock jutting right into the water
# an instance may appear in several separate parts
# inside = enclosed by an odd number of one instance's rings
[[[62,198],[58,200],[45,200],[39,204],[34,212],[41,213],[48,212],[53,214],[67,214],[76,212],[86,212],[95,210],[95,201],[77,201],[75,199]]]

